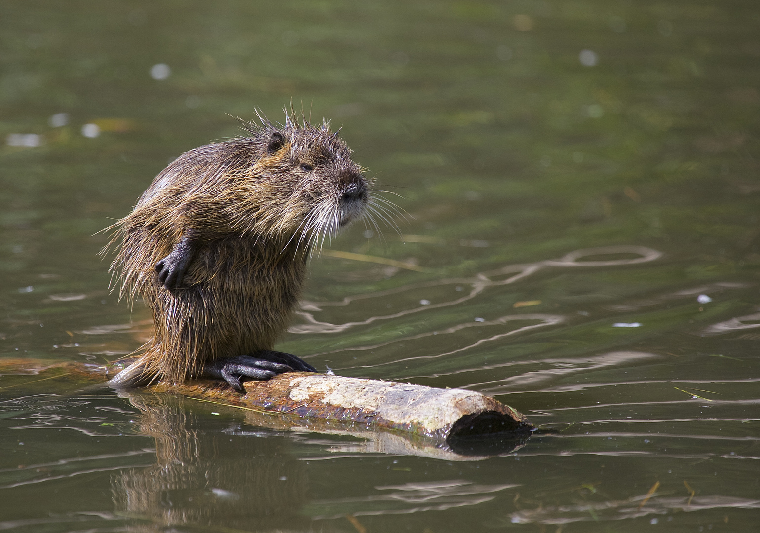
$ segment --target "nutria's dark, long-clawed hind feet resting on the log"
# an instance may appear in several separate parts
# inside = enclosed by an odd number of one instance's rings
[[[204,366],[204,376],[223,379],[237,392],[245,393],[240,382],[242,377],[252,379],[270,379],[277,374],[300,370],[302,372],[316,372],[314,366],[300,360],[290,354],[280,351],[257,352],[259,357],[239,355],[220,359]]]

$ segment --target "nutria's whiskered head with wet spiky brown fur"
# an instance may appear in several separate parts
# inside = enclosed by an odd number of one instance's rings
[[[312,125],[288,115],[284,125],[261,119],[244,128],[253,150],[250,166],[236,173],[239,200],[249,205],[239,212],[255,213],[259,233],[311,245],[365,214],[374,224],[369,180],[327,121]]]

